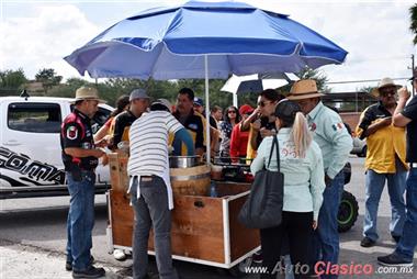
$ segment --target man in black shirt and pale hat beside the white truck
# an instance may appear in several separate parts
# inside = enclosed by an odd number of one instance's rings
[[[99,99],[95,88],[81,87],[76,91],[75,109],[61,125],[60,145],[63,161],[71,196],[67,222],[66,269],[74,278],[99,278],[103,268],[92,266],[92,236],[94,225],[94,169],[104,152],[97,148],[90,120],[98,111]],[[105,143],[103,143],[105,144]]]

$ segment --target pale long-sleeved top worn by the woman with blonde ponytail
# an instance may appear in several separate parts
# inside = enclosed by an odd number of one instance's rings
[[[325,190],[325,174],[322,152],[313,141],[305,158],[295,157],[294,144],[290,141],[291,129],[280,129],[277,138],[280,145],[281,172],[284,174],[284,204],[283,211],[312,212],[314,220],[318,220],[318,212]],[[258,148],[250,170],[252,174],[267,167],[272,146],[272,136],[263,138]],[[268,169],[277,170],[277,154],[272,154]]]

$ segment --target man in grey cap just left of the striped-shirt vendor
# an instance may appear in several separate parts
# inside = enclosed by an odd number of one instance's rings
[[[128,142],[128,131],[132,123],[140,118],[149,107],[149,96],[144,89],[135,89],[128,98],[131,105],[127,111],[122,112],[115,119],[113,132],[113,149],[117,148],[120,142]]]

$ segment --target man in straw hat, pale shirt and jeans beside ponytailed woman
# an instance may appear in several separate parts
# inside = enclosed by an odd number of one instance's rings
[[[352,138],[339,114],[323,104],[322,96],[324,94],[318,92],[315,80],[304,79],[293,85],[288,99],[300,104],[307,118],[314,141],[323,154],[327,187],[323,193],[324,201],[312,247],[315,253],[313,261],[337,264],[339,257],[337,213],[345,185],[342,169],[352,149]]]

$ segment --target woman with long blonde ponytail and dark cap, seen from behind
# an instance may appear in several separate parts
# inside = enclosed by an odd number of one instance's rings
[[[286,235],[293,267],[308,265],[311,237],[319,223],[318,212],[325,189],[322,152],[313,141],[300,105],[284,99],[277,104],[274,115],[280,170],[284,174],[284,198],[281,224],[260,230],[263,266],[270,272],[262,274],[261,278],[277,277],[277,274],[271,272],[280,260],[283,237]],[[253,175],[267,167],[272,140],[272,136],[266,137],[259,146],[258,155],[250,167]],[[278,169],[275,158],[275,154],[272,154],[270,170]],[[306,267],[297,270],[293,269],[295,278],[309,277],[301,272],[306,272]],[[309,271],[313,271],[312,268]]]

